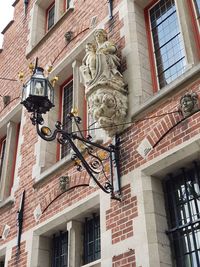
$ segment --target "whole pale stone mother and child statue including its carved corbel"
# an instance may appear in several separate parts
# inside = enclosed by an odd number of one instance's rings
[[[89,113],[110,137],[123,130],[128,109],[127,90],[116,53],[117,48],[107,39],[105,30],[98,29],[94,42],[86,44],[80,67]]]

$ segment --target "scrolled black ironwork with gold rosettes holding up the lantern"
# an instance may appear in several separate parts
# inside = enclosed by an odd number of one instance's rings
[[[69,116],[69,119],[76,118],[75,116]],[[89,176],[95,181],[95,183],[99,186],[101,190],[103,190],[107,194],[111,194],[112,199],[116,199],[121,201],[121,198],[118,195],[115,195],[114,193],[114,187],[113,187],[113,171],[112,168],[114,167],[113,164],[113,159],[112,159],[112,154],[115,153],[115,146],[110,145],[108,147],[104,147],[98,143],[94,143],[91,141],[91,139],[86,139],[85,137],[78,136],[75,133],[68,133],[63,129],[62,124],[58,121],[55,124],[55,129],[53,132],[48,128],[48,127],[39,127],[39,125],[43,125],[44,120],[42,118],[41,114],[37,114],[34,112],[31,117],[31,121],[33,125],[36,126],[36,130],[38,135],[45,141],[50,142],[53,141],[57,138],[58,142],[61,144],[68,143],[72,150],[74,151],[74,154],[72,155],[72,160],[75,162],[75,166],[78,171],[82,171],[82,168],[84,168]],[[76,125],[80,123],[80,119],[75,119]],[[45,132],[44,129],[47,131]],[[89,163],[85,160],[82,152],[78,149],[78,147],[75,145],[74,140],[79,140],[81,141],[84,145],[86,145],[86,150],[88,152],[88,155],[91,157],[92,161]],[[93,149],[99,148],[103,150],[104,152],[108,153],[108,157],[105,159],[101,159],[97,154],[95,154],[95,150]],[[111,176],[111,181],[109,181],[108,177],[106,176],[104,166],[103,166],[103,161],[110,158],[110,176]],[[104,185],[100,183],[98,178],[96,178],[97,174],[102,173],[104,177],[107,179]]]

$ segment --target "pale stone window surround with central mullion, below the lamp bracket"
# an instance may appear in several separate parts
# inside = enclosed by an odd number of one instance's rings
[[[30,267],[50,266],[50,238],[59,230],[68,231],[68,266],[101,267],[101,259],[87,265],[81,265],[84,218],[99,210],[100,195],[95,193],[86,200],[75,203],[63,212],[51,217],[48,221],[38,225],[33,231]]]

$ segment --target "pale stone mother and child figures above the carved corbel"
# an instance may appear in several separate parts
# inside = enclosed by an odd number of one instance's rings
[[[86,44],[86,55],[80,67],[81,82],[86,91],[98,84],[108,82],[116,84],[124,90],[122,74],[118,68],[120,59],[117,57],[117,48],[113,42],[107,40],[107,33],[103,29],[95,31],[95,43]]]

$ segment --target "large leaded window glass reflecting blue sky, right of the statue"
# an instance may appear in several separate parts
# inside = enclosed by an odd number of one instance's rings
[[[185,52],[174,0],[161,0],[150,9],[150,23],[160,88],[185,71]]]

